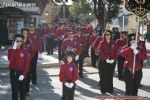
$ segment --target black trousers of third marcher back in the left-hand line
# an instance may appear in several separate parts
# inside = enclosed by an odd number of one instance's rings
[[[35,53],[35,56],[31,59],[30,62],[30,68],[31,68],[30,75],[31,75],[32,83],[35,83],[37,81],[37,74],[36,74],[37,60],[38,60],[38,52]]]

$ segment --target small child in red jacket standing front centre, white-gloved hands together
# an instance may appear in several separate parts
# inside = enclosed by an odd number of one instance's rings
[[[63,84],[62,100],[74,100],[75,82],[78,79],[78,69],[74,63],[74,54],[68,52],[67,62],[60,67],[59,78]]]

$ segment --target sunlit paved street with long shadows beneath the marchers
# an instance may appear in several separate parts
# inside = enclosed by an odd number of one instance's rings
[[[27,100],[60,100],[62,94],[62,85],[59,82],[58,78],[59,67],[56,67],[56,65],[58,66],[56,55],[56,53],[54,56],[43,54],[43,60],[39,60],[37,68],[38,84],[31,85],[31,94],[29,97],[27,97]],[[5,65],[5,63],[7,62],[5,58],[6,52],[4,53],[4,55],[1,53],[1,60],[3,60],[0,62],[1,65]],[[145,67],[143,69],[143,87],[139,89],[140,96],[150,97],[149,66],[150,61],[148,59],[148,62],[145,64]],[[84,67],[84,75],[84,79],[79,78],[79,80],[77,81],[75,100],[96,100],[96,96],[101,95],[99,87],[97,86],[99,81],[97,69],[92,67]],[[116,96],[125,94],[125,84],[123,81],[119,81],[116,76],[117,73],[115,72],[114,93],[107,95]],[[9,71],[7,68],[0,69],[0,100],[11,100]]]

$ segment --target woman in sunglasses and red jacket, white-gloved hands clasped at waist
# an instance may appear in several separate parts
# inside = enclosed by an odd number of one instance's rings
[[[112,40],[112,32],[106,30],[104,38],[98,47],[100,55],[100,78],[101,93],[113,93],[113,73],[118,57],[118,50],[115,42]]]

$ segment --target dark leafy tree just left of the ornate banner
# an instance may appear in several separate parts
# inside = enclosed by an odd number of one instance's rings
[[[107,23],[111,23],[112,19],[117,17],[122,0],[93,0],[93,3],[98,23],[105,29]]]

